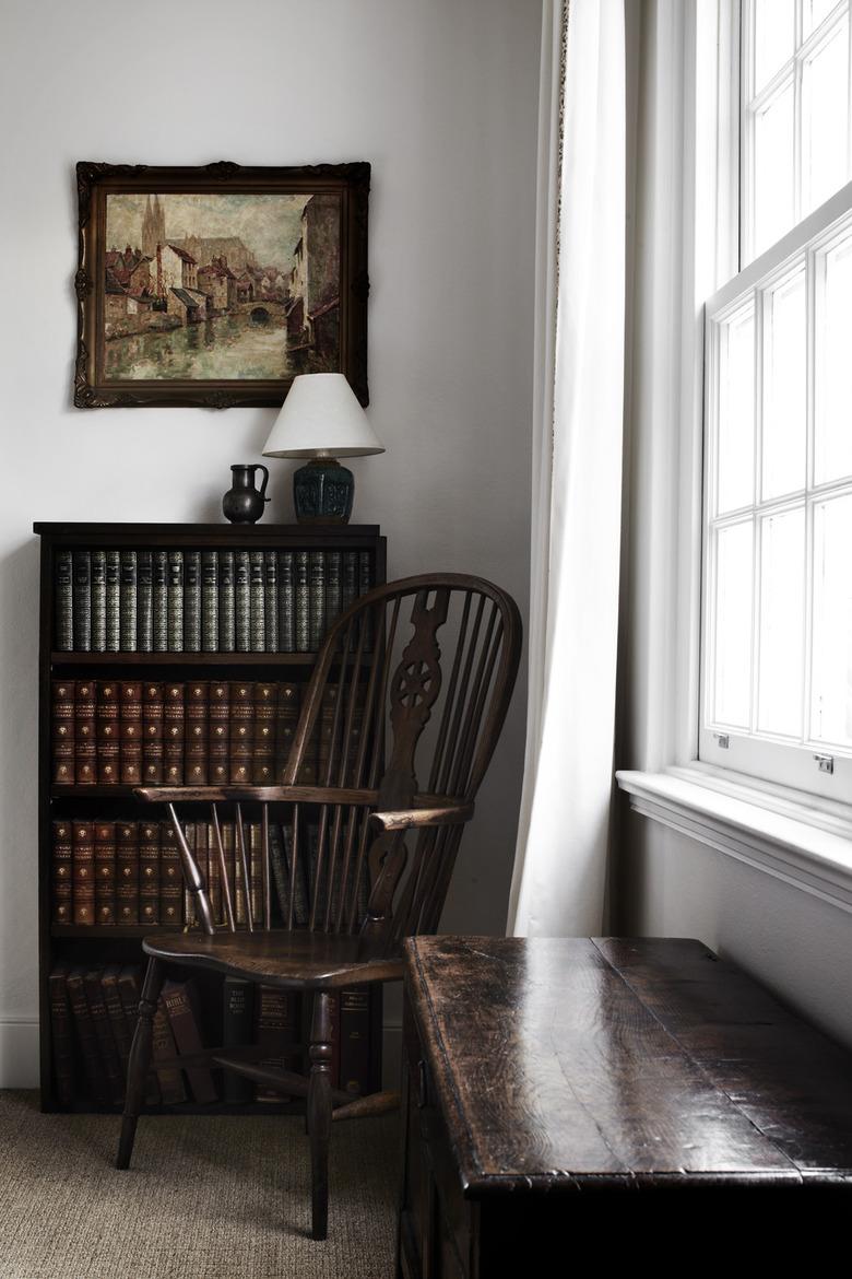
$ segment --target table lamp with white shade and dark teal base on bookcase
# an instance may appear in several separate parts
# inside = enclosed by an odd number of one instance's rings
[[[384,453],[344,373],[294,377],[263,448],[264,458],[309,458],[293,477],[300,523],[345,524],[355,478],[339,458]]]

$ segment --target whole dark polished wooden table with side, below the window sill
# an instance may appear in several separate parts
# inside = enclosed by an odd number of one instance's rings
[[[401,1274],[567,1273],[586,1232],[640,1260],[674,1225],[706,1261],[746,1224],[765,1261],[814,1210],[846,1225],[852,1056],[700,941],[406,952]]]

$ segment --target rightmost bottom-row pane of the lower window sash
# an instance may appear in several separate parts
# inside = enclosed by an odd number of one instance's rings
[[[811,737],[852,748],[852,496],[814,509]]]

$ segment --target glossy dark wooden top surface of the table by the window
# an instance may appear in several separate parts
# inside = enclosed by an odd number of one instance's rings
[[[413,938],[465,1193],[847,1183],[852,1055],[700,941]]]

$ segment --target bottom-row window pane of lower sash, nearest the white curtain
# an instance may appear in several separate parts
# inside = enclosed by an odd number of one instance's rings
[[[751,719],[752,524],[717,533],[714,710],[717,724],[749,728]]]

